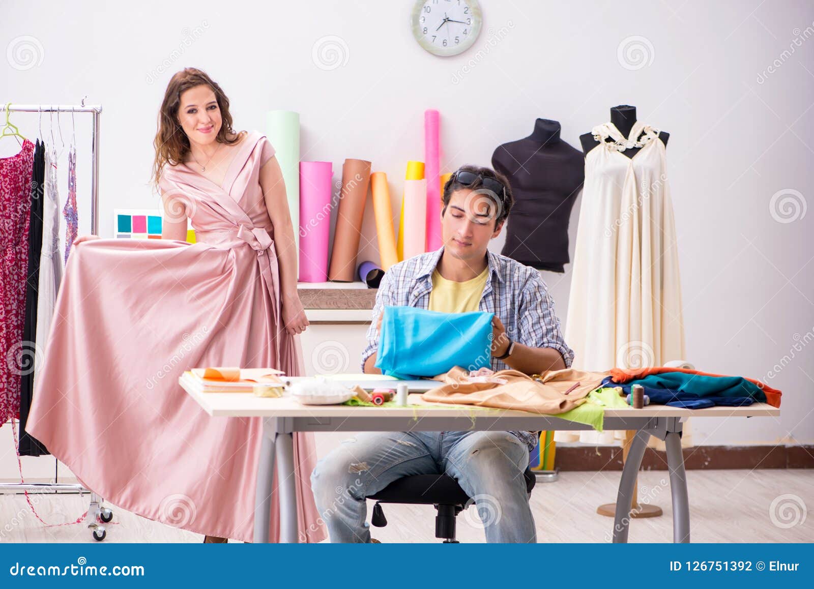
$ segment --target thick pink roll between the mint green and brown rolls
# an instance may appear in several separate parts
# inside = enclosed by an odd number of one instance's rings
[[[300,282],[328,280],[330,162],[300,162]]]

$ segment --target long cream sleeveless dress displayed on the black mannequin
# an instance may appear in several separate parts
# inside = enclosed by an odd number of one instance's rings
[[[573,367],[602,371],[685,359],[664,143],[657,129],[639,121],[629,138],[611,123],[592,133],[599,144],[585,157],[565,326]],[[636,155],[624,155],[636,146]],[[582,441],[597,442],[596,432],[586,434],[594,435]],[[558,438],[567,441],[565,434]]]

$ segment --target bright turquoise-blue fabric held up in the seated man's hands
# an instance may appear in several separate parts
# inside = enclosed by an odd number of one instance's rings
[[[434,377],[454,366],[477,370],[492,363],[494,313],[442,313],[385,307],[376,368],[396,378]]]

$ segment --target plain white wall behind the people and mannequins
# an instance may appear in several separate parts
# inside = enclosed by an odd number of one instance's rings
[[[636,105],[642,120],[671,133],[689,360],[753,377],[786,364],[768,380],[785,394],[780,419],[696,420],[695,443],[814,442],[814,212],[803,216],[799,209],[797,220],[781,223],[769,208],[778,191],[798,190],[801,196],[792,197],[798,207],[814,191],[811,3],[481,5],[484,31],[475,48],[439,59],[413,41],[406,1],[147,0],[125,12],[117,2],[77,0],[62,11],[11,0],[3,46],[35,37],[37,65],[20,70],[0,63],[0,100],[76,103],[86,94],[103,104],[103,235],[112,232],[114,207],[157,203],[147,185],[155,116],[169,77],[188,65],[222,85],[239,129],[262,129],[269,109],[300,111],[303,159],[333,161],[336,176],[345,158],[370,159],[393,179],[394,204],[405,162],[422,159],[427,107],[441,112],[442,165],[451,171],[489,164],[495,147],[530,133],[536,117],[560,120],[562,137],[578,146],[580,133],[607,120],[610,107]],[[501,37],[492,44],[490,29]],[[314,63],[312,49],[331,35],[347,47],[347,63],[326,71]],[[633,36],[646,38],[652,62],[628,70],[618,48]],[[795,38],[805,40],[794,46]],[[794,54],[783,55],[790,47]],[[474,67],[462,76],[470,59]],[[776,71],[766,72],[776,60]],[[24,133],[35,133],[36,116],[15,120]],[[66,121],[61,118],[63,130]],[[86,118],[77,116],[87,228],[85,130]],[[15,148],[3,140],[0,155]],[[579,203],[572,241],[578,209]],[[371,213],[365,213],[365,237],[373,242],[362,255],[375,252]],[[563,318],[569,269],[545,274]]]

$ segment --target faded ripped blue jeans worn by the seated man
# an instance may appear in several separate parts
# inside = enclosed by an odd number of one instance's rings
[[[527,466],[526,444],[505,431],[365,432],[317,462],[311,487],[331,542],[370,542],[365,497],[398,478],[445,473],[475,500],[487,542],[536,543]]]

